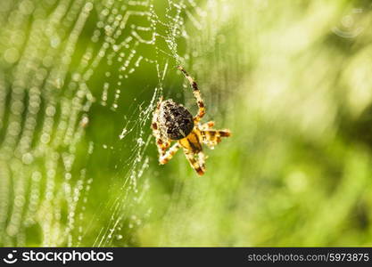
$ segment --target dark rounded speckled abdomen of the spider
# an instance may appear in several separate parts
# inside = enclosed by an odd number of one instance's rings
[[[185,138],[194,128],[193,115],[184,106],[172,100],[161,102],[158,120],[162,134],[171,140]]]

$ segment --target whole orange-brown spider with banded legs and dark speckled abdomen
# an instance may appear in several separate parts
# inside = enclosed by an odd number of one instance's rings
[[[182,148],[185,156],[197,174],[205,173],[205,156],[202,144],[211,149],[219,142],[221,137],[230,136],[230,131],[212,129],[214,122],[204,124],[200,120],[205,115],[205,106],[198,85],[186,70],[181,66],[178,69],[184,74],[198,105],[198,113],[193,117],[191,113],[181,104],[169,100],[163,100],[161,96],[153,111],[153,136],[159,151],[159,163],[164,165]],[[174,143],[171,147],[171,142]]]

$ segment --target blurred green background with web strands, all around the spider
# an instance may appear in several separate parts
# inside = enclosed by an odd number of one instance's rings
[[[0,246],[371,246],[369,3],[2,0]],[[157,163],[178,64],[203,177]]]

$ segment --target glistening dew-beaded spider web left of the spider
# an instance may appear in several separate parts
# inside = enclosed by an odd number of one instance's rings
[[[142,205],[149,119],[169,69],[192,57],[186,21],[200,30],[205,13],[193,0],[1,6],[0,244],[134,244],[117,232],[152,212]],[[140,102],[126,88],[144,72]]]

